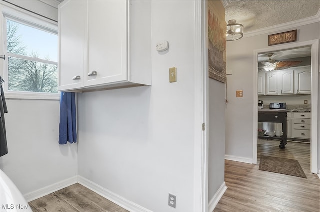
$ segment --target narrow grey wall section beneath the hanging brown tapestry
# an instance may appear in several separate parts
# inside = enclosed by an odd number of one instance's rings
[[[225,84],[209,79],[209,176],[208,199],[224,183]]]

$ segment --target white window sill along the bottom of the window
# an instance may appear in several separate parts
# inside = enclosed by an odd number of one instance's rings
[[[60,100],[60,93],[37,93],[37,92],[4,92],[5,99],[43,99],[43,100]]]

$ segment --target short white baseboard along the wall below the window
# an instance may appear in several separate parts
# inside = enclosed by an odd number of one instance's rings
[[[67,186],[75,184],[77,182],[78,182],[77,176],[74,176],[74,177],[59,181],[57,183],[51,184],[49,186],[43,187],[41,189],[35,190],[33,192],[26,193],[23,196],[27,202],[30,202],[32,200],[38,199],[40,197],[48,195],[57,190],[63,189]]]

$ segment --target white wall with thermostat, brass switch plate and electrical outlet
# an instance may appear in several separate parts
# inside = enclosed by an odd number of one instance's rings
[[[78,96],[78,172],[148,210],[194,211],[194,2],[152,1],[151,15],[152,86]]]

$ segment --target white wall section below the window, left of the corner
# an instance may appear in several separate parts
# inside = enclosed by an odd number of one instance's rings
[[[58,100],[6,100],[8,154],[1,169],[22,194],[74,177],[77,144],[59,145]]]

